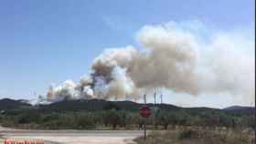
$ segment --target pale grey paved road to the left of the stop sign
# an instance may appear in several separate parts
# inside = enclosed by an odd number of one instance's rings
[[[45,144],[125,144],[142,136],[143,131],[0,129],[0,135],[5,139],[44,140]]]

